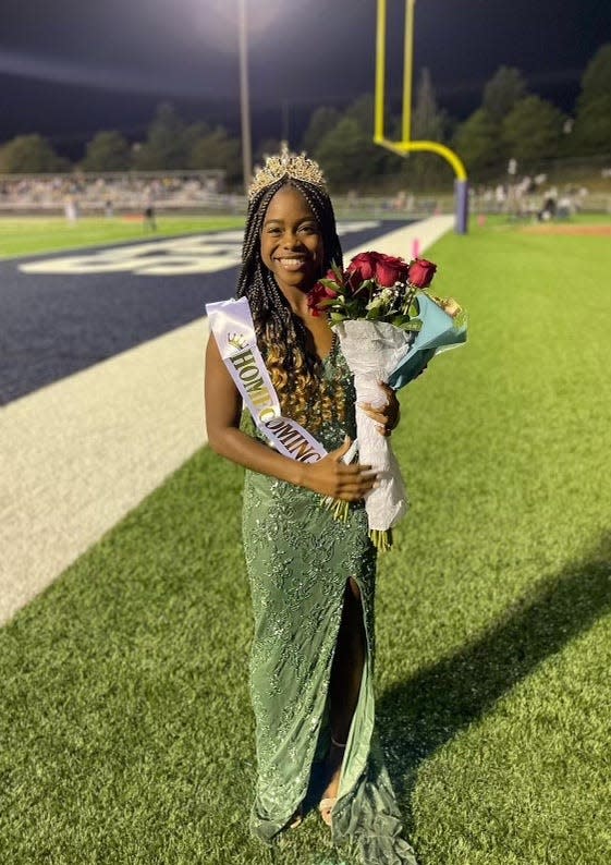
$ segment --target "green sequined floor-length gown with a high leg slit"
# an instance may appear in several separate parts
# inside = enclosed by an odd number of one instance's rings
[[[334,342],[323,362],[330,387],[343,388],[346,418],[317,438],[328,451],[354,437],[352,376]],[[375,733],[374,595],[376,550],[362,505],[346,523],[302,487],[246,472],[244,550],[255,630],[250,694],[256,719],[258,779],[250,828],[271,841],[306,797],[313,766],[329,746],[328,691],[344,590],[361,589],[367,656],[345,750],[333,840],[354,842],[365,865],[415,865],[401,838],[390,779]]]

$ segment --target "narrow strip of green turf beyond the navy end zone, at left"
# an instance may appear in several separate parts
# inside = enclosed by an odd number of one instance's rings
[[[0,218],[0,258],[59,249],[77,249],[107,243],[152,240],[200,231],[223,231],[241,228],[243,217],[174,217],[157,218],[157,231],[145,230],[142,219],[84,217],[70,224],[61,217]]]

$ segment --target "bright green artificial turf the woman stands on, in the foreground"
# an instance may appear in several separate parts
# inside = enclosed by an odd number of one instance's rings
[[[490,222],[427,252],[471,337],[401,393],[377,658],[421,865],[611,862],[609,247]],[[241,476],[203,449],[0,631],[0,862],[270,862]],[[276,862],[355,860],[311,815]]]

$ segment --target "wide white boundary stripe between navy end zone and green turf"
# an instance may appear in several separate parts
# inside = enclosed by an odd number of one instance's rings
[[[412,255],[432,217],[349,249]],[[206,442],[205,318],[0,410],[0,624]]]

